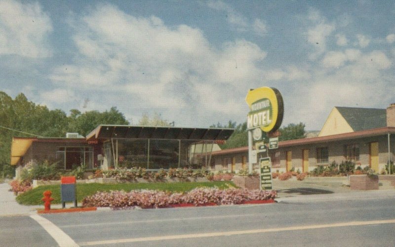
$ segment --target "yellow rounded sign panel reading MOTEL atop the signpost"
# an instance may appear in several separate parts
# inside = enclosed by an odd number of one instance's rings
[[[284,103],[281,93],[275,88],[262,87],[251,90],[245,97],[250,112],[247,128],[260,127],[265,132],[276,131],[282,122]]]

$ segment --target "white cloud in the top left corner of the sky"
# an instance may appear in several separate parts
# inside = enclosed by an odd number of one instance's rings
[[[29,58],[51,56],[46,35],[52,31],[51,20],[38,2],[0,1],[0,55]]]

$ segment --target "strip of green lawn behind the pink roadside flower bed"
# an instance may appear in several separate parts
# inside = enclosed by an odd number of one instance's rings
[[[97,191],[124,190],[130,191],[134,189],[157,189],[168,190],[172,192],[184,192],[196,187],[218,187],[221,189],[235,187],[233,182],[180,182],[180,183],[130,183],[130,184],[78,184],[77,200],[82,201],[83,198],[95,194]],[[22,205],[43,205],[41,198],[45,190],[52,191],[53,204],[59,204],[60,201],[60,185],[42,185],[29,190],[16,197],[16,201]]]

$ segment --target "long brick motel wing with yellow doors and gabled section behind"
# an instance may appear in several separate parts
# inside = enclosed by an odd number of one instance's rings
[[[349,160],[381,173],[389,160],[394,161],[394,151],[395,104],[387,109],[334,107],[317,137],[279,142],[277,149],[259,153],[258,160],[271,157],[273,172],[292,168],[309,172],[333,161]],[[211,155],[212,170],[248,169],[248,147],[213,151]],[[258,164],[253,167],[257,170]]]

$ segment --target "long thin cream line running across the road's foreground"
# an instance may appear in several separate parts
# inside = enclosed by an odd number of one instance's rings
[[[183,235],[170,235],[170,236],[157,236],[157,237],[102,240],[102,241],[83,242],[83,243],[79,243],[79,245],[81,245],[81,246],[110,245],[110,244],[133,243],[133,242],[221,237],[221,236],[232,236],[232,235],[241,235],[241,234],[254,234],[254,233],[267,233],[267,232],[280,232],[280,231],[296,231],[296,230],[308,230],[308,229],[329,228],[329,227],[360,226],[360,225],[391,224],[391,223],[395,223],[395,219],[371,220],[371,221],[352,221],[352,222],[333,223],[333,224],[290,226],[290,227],[281,227],[281,228],[254,229],[254,230],[244,230],[244,231],[209,232],[209,233],[196,233],[196,234],[183,234]]]

